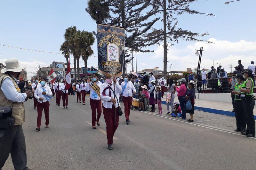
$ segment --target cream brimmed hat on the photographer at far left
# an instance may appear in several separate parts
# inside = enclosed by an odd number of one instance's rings
[[[12,71],[12,72],[20,72],[25,69],[25,66],[20,65],[18,59],[12,58],[8,59],[5,62],[6,68],[1,70],[1,73],[5,73],[6,71]]]

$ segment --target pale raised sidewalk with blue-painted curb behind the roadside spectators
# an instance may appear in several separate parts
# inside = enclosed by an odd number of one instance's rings
[[[164,99],[162,100],[162,104],[166,104],[165,102],[166,94],[164,94]],[[174,102],[178,101],[177,94],[175,96]],[[225,102],[218,102],[218,101],[209,101],[209,100],[199,100],[195,99],[195,110],[215,113],[219,115],[226,115],[226,116],[235,116],[231,103]],[[256,108],[253,109],[254,112],[254,119],[256,120]]]

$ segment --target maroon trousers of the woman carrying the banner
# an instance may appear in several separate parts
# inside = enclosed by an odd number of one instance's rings
[[[114,137],[114,134],[118,127],[118,122],[119,122],[118,107],[116,107],[116,122],[115,122],[115,110],[114,110],[115,107],[114,107],[114,105],[112,108],[105,108],[102,105],[102,108],[103,108],[104,119],[106,122],[108,144],[113,144],[113,137]]]

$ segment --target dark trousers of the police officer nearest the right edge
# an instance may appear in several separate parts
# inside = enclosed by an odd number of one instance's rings
[[[255,121],[253,115],[253,107],[255,105],[255,100],[252,98],[252,96],[247,96],[247,98],[248,99],[242,100],[247,125],[246,132],[255,135]]]

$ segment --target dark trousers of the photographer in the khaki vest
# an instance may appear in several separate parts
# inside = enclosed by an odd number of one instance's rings
[[[11,152],[15,170],[27,170],[27,154],[22,125],[12,126],[0,137],[0,169]]]

